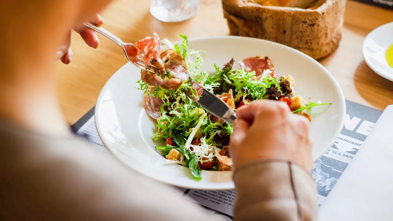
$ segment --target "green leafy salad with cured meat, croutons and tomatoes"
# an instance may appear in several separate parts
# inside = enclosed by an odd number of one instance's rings
[[[293,113],[312,117],[303,110],[329,103],[306,103],[294,95],[295,81],[290,75],[277,77],[272,61],[262,55],[248,57],[234,66],[234,59],[214,65],[214,73],[202,70],[205,53],[189,47],[188,39],[173,45],[167,39],[160,41],[146,37],[133,46],[135,56],[142,52],[145,64],[156,63],[156,72],[141,71],[138,81],[144,91],[147,114],[156,120],[154,140],[165,140],[155,147],[169,162],[190,169],[194,179],[200,180],[201,170],[228,171],[232,159],[228,151],[232,125],[220,120],[198,105],[192,97],[200,91],[189,81],[192,77],[236,111],[258,99],[285,102]],[[161,46],[167,50],[161,50]],[[129,54],[130,56],[130,54]]]

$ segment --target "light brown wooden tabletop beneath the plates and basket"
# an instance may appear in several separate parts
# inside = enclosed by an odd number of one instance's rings
[[[158,33],[171,41],[178,34],[191,38],[228,35],[220,0],[201,0],[198,14],[181,23],[164,23],[149,13],[148,0],[117,0],[101,13],[105,28],[125,42],[136,42]],[[393,82],[375,74],[364,62],[362,42],[374,28],[393,22],[393,11],[348,1],[345,11],[343,38],[338,49],[323,64],[337,79],[346,99],[383,110],[393,104]],[[57,66],[59,99],[65,118],[74,123],[97,101],[107,80],[126,63],[119,46],[99,35],[98,49],[88,48],[73,33],[73,61]]]

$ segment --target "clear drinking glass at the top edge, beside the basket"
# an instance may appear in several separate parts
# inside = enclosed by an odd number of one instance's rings
[[[163,22],[182,22],[195,16],[199,0],[151,0],[150,13]]]

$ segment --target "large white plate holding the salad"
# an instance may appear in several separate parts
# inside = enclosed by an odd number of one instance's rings
[[[310,97],[311,101],[332,103],[311,124],[312,158],[318,159],[336,140],[343,126],[345,101],[332,75],[314,59],[281,44],[245,37],[193,39],[189,45],[206,51],[203,68],[207,72],[214,72],[214,63],[222,65],[232,57],[239,61],[267,55],[279,76],[295,77],[295,94]],[[154,149],[156,144],[151,139],[155,123],[143,109],[142,92],[135,88],[139,79],[140,70],[127,63],[108,80],[99,95],[95,122],[108,150],[130,168],[167,184],[204,190],[233,189],[231,171],[202,171],[202,180],[195,181],[188,168],[164,165],[166,160]]]

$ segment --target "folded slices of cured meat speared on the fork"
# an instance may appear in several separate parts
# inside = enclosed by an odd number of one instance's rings
[[[160,86],[167,90],[174,90],[184,81],[188,81],[188,70],[185,59],[176,50],[168,49],[161,52],[160,37],[146,37],[126,48],[131,61],[138,61],[138,54],[144,53],[142,62],[156,64],[156,72],[151,73],[141,70],[141,79],[151,86]]]

